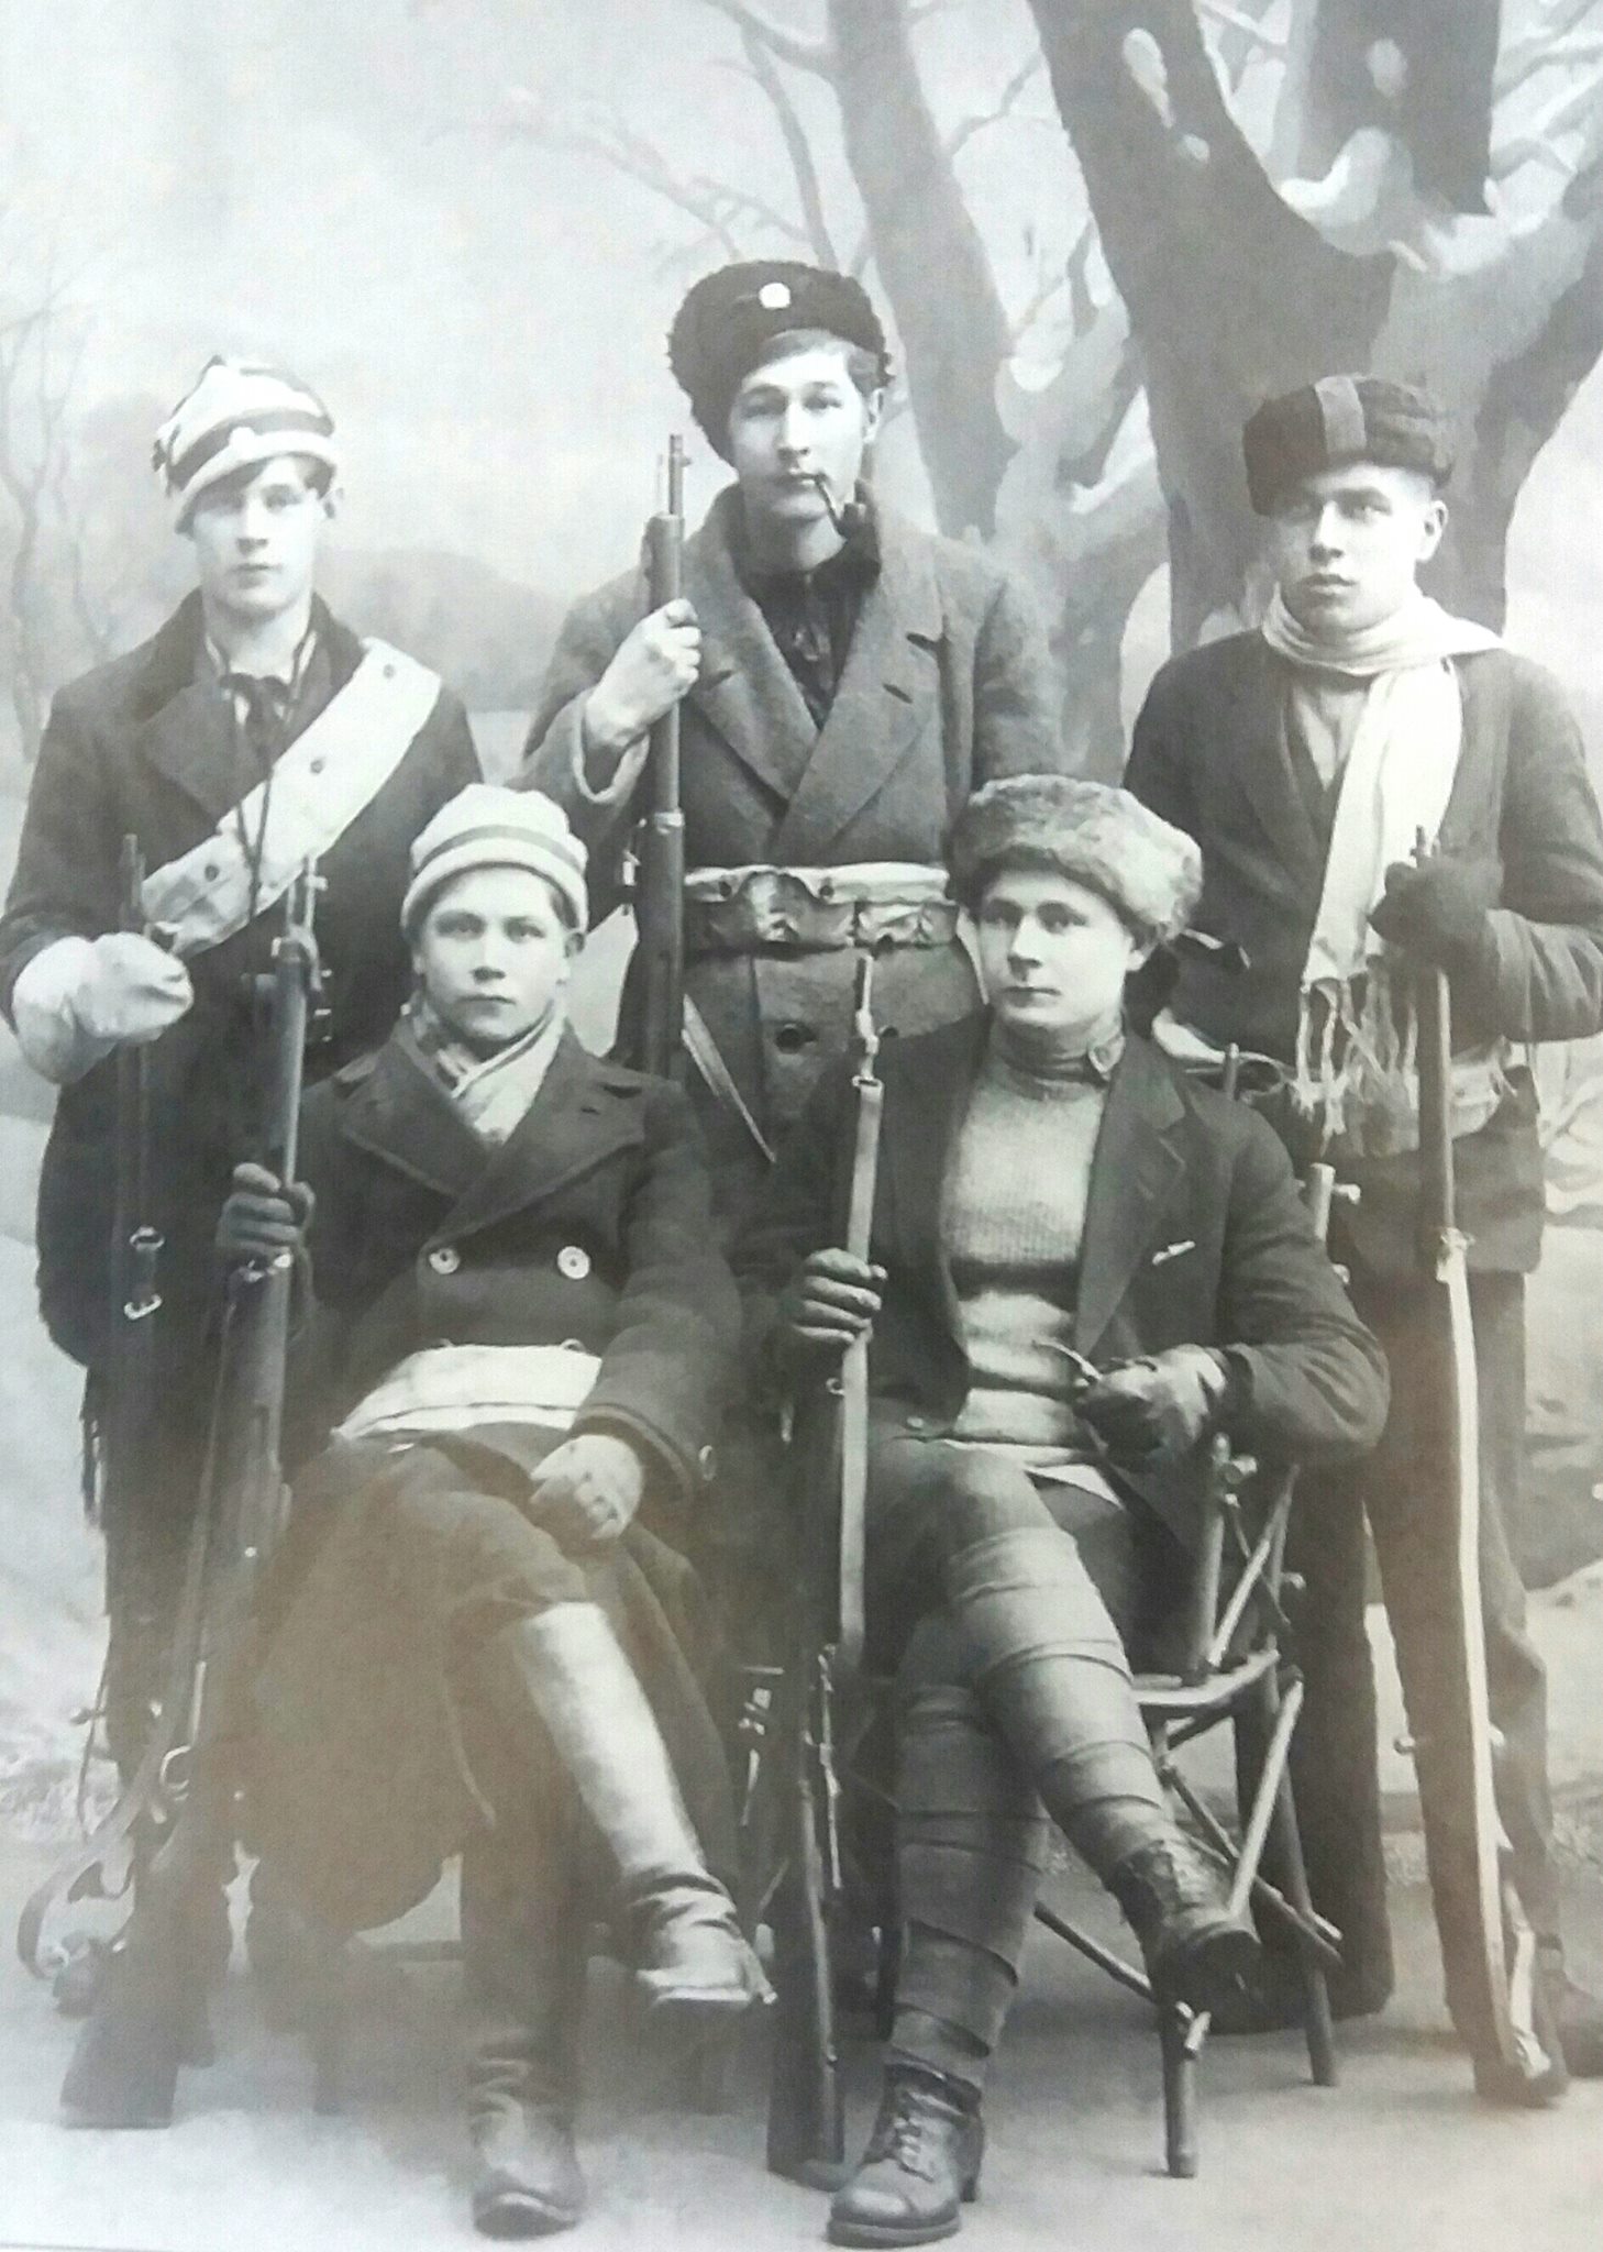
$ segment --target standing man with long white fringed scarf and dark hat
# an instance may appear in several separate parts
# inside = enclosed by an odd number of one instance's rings
[[[1416,1466],[1436,1444],[1416,1338],[1432,1290],[1416,1266],[1418,1099],[1409,973],[1450,977],[1452,1131],[1479,1374],[1481,1583],[1499,1806],[1515,1880],[1558,2002],[1569,2070],[1603,2072],[1603,2007],[1569,1984],[1558,1943],[1547,1687],[1508,1556],[1524,1450],[1524,1275],[1542,1234],[1535,1094],[1522,1047],[1603,1020],[1603,831],[1556,682],[1416,586],[1443,536],[1448,428],[1434,401],[1371,376],[1326,376],[1265,403],[1245,430],[1274,595],[1263,626],[1175,658],[1135,727],[1128,786],[1202,847],[1198,921],[1250,968],[1186,962],[1168,1038],[1279,1056],[1290,1133],[1360,1185],[1337,1257],[1391,1358],[1394,1410],[1362,1475],[1304,1489],[1308,1703],[1299,1804],[1319,1907],[1346,1934],[1337,2009],[1391,1989],[1380,1858],[1373,1682],[1364,1635],[1364,1507],[1418,1743],[1425,1817],[1436,1619],[1448,1556]],[[1425,838],[1427,856],[1416,854]],[[1459,1907],[1432,1856],[1454,2002]],[[1472,1930],[1466,1925],[1466,1932]],[[1470,1939],[1472,1943],[1472,1939]],[[1270,1964],[1274,1968],[1274,1964]],[[1281,1966],[1286,1968],[1286,1966]],[[1272,1977],[1245,2025],[1277,2022]],[[1477,2079],[1486,2034],[1457,2011]]]

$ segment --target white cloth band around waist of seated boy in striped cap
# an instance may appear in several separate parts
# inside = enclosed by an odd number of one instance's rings
[[[340,1423],[340,1439],[428,1439],[484,1423],[563,1432],[601,1362],[576,1344],[428,1344],[408,1353]]]

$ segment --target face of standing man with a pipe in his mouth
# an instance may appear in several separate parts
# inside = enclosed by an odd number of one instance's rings
[[[754,367],[729,408],[729,457],[750,511],[772,525],[815,525],[842,509],[880,426],[880,394],[851,381],[847,345],[817,345]]]

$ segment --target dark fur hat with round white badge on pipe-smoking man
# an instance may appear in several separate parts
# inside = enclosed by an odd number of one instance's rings
[[[858,345],[880,363],[880,383],[889,378],[885,329],[851,275],[797,259],[747,259],[702,275],[673,315],[669,367],[725,462],[734,394],[788,329],[824,329]]]

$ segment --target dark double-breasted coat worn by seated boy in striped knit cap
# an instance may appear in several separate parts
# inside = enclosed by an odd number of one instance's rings
[[[257,1678],[252,1842],[338,1923],[398,1914],[489,1815],[464,1750],[466,1639],[545,1599],[590,1594],[617,1619],[720,1858],[725,1770],[700,1682],[714,1637],[678,1543],[711,1477],[738,1299],[684,1097],[565,1034],[531,1108],[489,1151],[389,1040],[308,1094],[302,1173],[315,1194],[315,1311],[293,1367],[297,1522]],[[324,1446],[333,1421],[428,1344],[570,1344],[599,1358],[574,1430],[621,1432],[648,1464],[642,1513],[615,1547],[574,1563],[545,1543],[536,1585],[489,1540],[464,1594],[448,1554],[462,1516],[396,1502],[412,1457]],[[518,1509],[549,1437],[516,1426],[462,1437],[464,1477]],[[477,1538],[477,1520],[466,1527]]]

